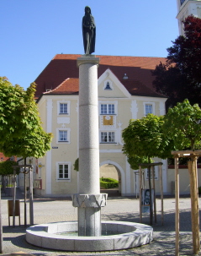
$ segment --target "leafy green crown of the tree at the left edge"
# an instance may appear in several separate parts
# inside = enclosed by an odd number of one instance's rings
[[[41,126],[34,92],[34,83],[24,90],[0,78],[0,151],[4,155],[39,158],[50,150],[52,134]]]

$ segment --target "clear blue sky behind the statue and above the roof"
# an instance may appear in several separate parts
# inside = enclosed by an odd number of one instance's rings
[[[0,76],[26,89],[56,54],[83,54],[86,5],[97,55],[167,57],[178,36],[176,0],[1,0]]]

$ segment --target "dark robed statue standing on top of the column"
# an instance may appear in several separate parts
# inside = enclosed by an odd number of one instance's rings
[[[95,52],[96,25],[91,8],[88,6],[85,7],[85,15],[82,19],[82,35],[85,54]]]

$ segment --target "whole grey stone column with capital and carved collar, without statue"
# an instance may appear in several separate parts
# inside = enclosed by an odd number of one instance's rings
[[[79,188],[72,196],[78,207],[78,235],[101,235],[101,207],[107,194],[100,194],[98,139],[98,63],[94,55],[77,58],[79,67]]]

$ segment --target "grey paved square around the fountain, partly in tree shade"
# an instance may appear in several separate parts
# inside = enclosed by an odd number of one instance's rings
[[[16,226],[13,227],[8,226],[8,199],[12,198],[3,197],[2,199],[3,255],[16,252],[31,253],[37,256],[175,255],[175,199],[173,198],[164,199],[163,226],[161,226],[161,201],[156,200],[157,224],[153,225],[153,242],[140,248],[97,253],[59,252],[29,244],[25,241],[24,200],[20,200],[21,226],[18,226],[19,217],[16,217]],[[201,199],[199,199],[200,203]],[[193,255],[190,205],[189,198],[180,199],[180,255]],[[102,209],[102,219],[139,222],[139,199],[108,198],[108,204]],[[77,209],[72,207],[71,200],[34,199],[34,224],[56,221],[77,221]],[[27,222],[29,224],[29,204],[27,204]],[[143,215],[143,223],[149,225],[149,215]]]

